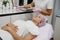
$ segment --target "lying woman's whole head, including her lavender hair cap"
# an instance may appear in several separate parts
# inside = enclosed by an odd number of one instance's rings
[[[37,14],[33,16],[32,21],[35,22],[37,25],[40,25],[45,22],[45,18],[42,14]]]

